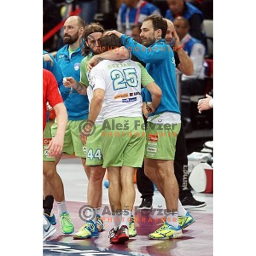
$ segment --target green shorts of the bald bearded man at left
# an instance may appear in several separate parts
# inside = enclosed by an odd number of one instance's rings
[[[81,142],[79,125],[85,123],[86,120],[78,120],[67,122],[67,128],[65,131],[64,144],[62,152],[73,155],[75,152],[76,157],[86,158],[86,145]],[[52,136],[54,137],[57,132],[57,122],[55,119],[52,125]]]

